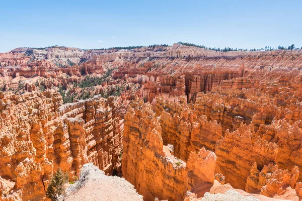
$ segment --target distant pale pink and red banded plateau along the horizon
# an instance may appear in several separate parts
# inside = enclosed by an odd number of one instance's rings
[[[16,62],[16,59],[22,62]],[[219,85],[247,88],[258,87],[259,83],[278,79],[283,82],[299,81],[301,79],[299,68],[302,67],[300,50],[216,52],[180,44],[132,50],[83,51],[65,47],[43,50],[17,48],[10,53],[2,54],[1,62],[3,62],[1,66],[22,67],[22,69],[17,67],[3,69],[2,74],[25,77],[34,74],[56,77],[62,72],[70,76],[81,76],[81,73],[101,73],[103,67],[108,64],[118,68],[114,72],[114,78],[147,74],[149,77],[154,76],[157,80],[157,77],[165,74],[173,74],[176,77],[185,75],[186,94],[189,102],[195,101],[197,92],[210,91]],[[34,66],[37,66],[38,70]],[[62,66],[64,67],[62,68]],[[257,77],[257,81],[250,82],[247,77]],[[152,93],[154,92],[157,90]],[[153,98],[153,96],[147,98]]]

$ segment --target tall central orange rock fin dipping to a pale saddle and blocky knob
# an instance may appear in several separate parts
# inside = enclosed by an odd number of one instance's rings
[[[183,200],[187,190],[199,193],[214,182],[213,152],[202,148],[187,162],[177,159],[163,145],[160,119],[151,106],[136,100],[132,107],[125,116],[122,172],[145,200]]]

